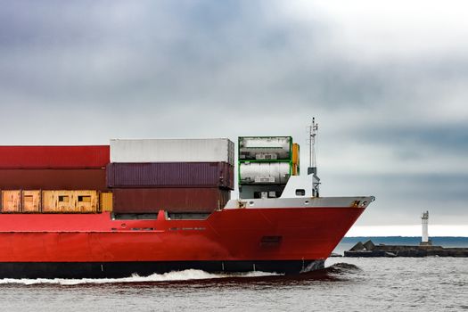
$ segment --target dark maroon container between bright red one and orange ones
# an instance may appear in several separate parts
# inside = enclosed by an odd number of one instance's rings
[[[106,190],[105,169],[0,169],[3,190]]]

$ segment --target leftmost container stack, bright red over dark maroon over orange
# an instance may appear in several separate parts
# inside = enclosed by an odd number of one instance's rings
[[[106,190],[109,146],[0,146],[3,213],[87,213]]]

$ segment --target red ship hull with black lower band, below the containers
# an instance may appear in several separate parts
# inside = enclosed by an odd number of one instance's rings
[[[0,215],[0,278],[323,267],[364,207],[223,209],[206,219]]]

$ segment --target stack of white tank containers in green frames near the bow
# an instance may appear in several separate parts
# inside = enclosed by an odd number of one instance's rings
[[[299,154],[291,136],[239,137],[240,197],[280,197],[289,177],[300,174]]]

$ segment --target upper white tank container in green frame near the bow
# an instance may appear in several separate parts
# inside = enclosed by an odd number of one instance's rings
[[[291,136],[240,136],[239,160],[291,160]]]

